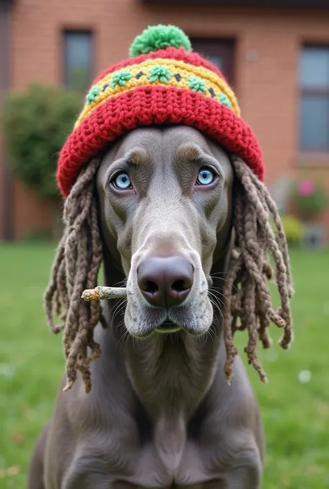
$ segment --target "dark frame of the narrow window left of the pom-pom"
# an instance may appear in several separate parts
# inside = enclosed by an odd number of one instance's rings
[[[74,87],[70,87],[68,82],[69,78],[69,62],[67,56],[67,35],[70,34],[87,34],[90,36],[90,46],[91,46],[91,55],[88,63],[88,72],[90,74],[90,83],[94,78],[94,62],[95,62],[95,35],[94,30],[92,28],[74,28],[74,27],[65,27],[60,31],[61,37],[61,45],[62,45],[62,53],[60,58],[61,65],[61,82],[62,85],[67,87],[67,89],[75,89]],[[85,87],[87,89],[88,87]]]

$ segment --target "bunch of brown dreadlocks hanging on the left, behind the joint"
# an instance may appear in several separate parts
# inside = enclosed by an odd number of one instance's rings
[[[51,271],[51,280],[44,294],[47,322],[54,333],[64,329],[64,350],[67,358],[69,390],[79,370],[90,392],[90,362],[101,354],[93,340],[93,329],[101,316],[101,304],[84,302],[81,294],[97,282],[102,261],[102,247],[97,218],[94,180],[99,160],[92,160],[81,171],[65,201],[65,230],[59,243]],[[62,325],[55,325],[54,316]],[[91,354],[87,355],[87,348]]]

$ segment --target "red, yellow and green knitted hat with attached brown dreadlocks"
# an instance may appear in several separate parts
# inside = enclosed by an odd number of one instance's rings
[[[85,289],[96,287],[102,261],[94,187],[99,165],[96,156],[109,141],[129,130],[159,124],[193,126],[234,155],[235,248],[223,290],[225,373],[230,380],[237,354],[233,335],[237,329],[246,329],[248,361],[266,381],[256,344],[260,339],[264,348],[269,348],[267,328],[273,323],[283,329],[280,345],[288,347],[293,291],[287,242],[276,205],[263,183],[258,141],[241,119],[235,94],[221,71],[192,52],[189,38],[176,26],[146,28],[135,38],[129,55],[94,80],[58,161],[56,176],[65,197],[65,230],[44,302],[53,332],[64,329],[67,388],[80,371],[85,389],[90,391],[90,361],[101,354],[93,340],[94,327],[101,320],[100,302],[81,299]],[[272,306],[267,285],[272,276],[270,257],[280,295],[278,309]],[[62,319],[62,325],[54,324],[55,316]]]

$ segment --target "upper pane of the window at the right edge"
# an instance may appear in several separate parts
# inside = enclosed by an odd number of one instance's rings
[[[329,87],[329,48],[305,46],[299,60],[301,87]]]

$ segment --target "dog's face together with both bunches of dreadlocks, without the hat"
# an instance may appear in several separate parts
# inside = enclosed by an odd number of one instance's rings
[[[100,354],[93,330],[102,318],[101,304],[85,302],[81,294],[96,286],[102,261],[106,285],[117,285],[120,273],[126,279],[126,329],[141,338],[179,329],[190,335],[208,332],[211,274],[227,272],[217,291],[222,294],[226,378],[237,354],[233,334],[248,329],[248,361],[266,381],[255,354],[257,340],[269,348],[272,322],[283,328],[280,345],[288,348],[292,279],[276,205],[241,157],[228,157],[187,126],[133,130],[84,166],[65,202],[64,218],[44,304],[51,329],[65,328],[66,390],[77,370],[86,392],[91,388],[90,361]],[[276,266],[278,309],[267,286],[269,254]],[[54,314],[61,309],[65,325],[56,327]]]

